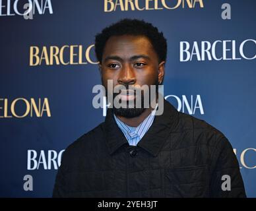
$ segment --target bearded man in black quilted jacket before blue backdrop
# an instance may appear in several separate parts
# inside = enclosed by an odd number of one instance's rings
[[[104,87],[112,80],[127,88],[114,94],[121,102],[135,100],[128,87],[162,84],[167,44],[152,24],[123,19],[96,36],[95,49]],[[220,131],[167,101],[162,115],[153,109],[109,108],[104,123],[65,150],[53,196],[245,197],[238,161]]]

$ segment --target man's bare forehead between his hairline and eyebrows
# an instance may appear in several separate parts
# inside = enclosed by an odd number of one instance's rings
[[[148,55],[152,59],[157,58],[150,40],[145,36],[111,36],[104,47],[103,58],[108,55],[118,55],[125,58],[141,54]]]

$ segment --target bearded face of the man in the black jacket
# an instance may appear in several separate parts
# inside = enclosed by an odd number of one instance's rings
[[[113,80],[113,88],[119,85],[143,86],[157,85],[164,76],[164,61],[158,62],[158,56],[152,44],[145,36],[112,36],[105,45],[100,65],[102,83],[108,88],[108,80]],[[132,92],[132,91],[131,91]],[[121,96],[122,100],[135,100],[131,92]],[[141,99],[143,100],[143,95]],[[115,98],[117,94],[113,94]],[[143,102],[142,102],[143,105]],[[142,108],[115,109],[116,115],[136,117],[144,111]]]

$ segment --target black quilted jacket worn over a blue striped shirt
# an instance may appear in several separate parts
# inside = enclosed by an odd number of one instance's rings
[[[230,142],[205,121],[165,101],[164,114],[129,146],[112,112],[65,150],[53,197],[245,197]]]

